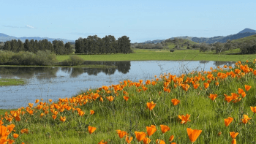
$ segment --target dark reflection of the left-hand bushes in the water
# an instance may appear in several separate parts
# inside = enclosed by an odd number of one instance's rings
[[[52,67],[0,67],[1,77],[19,77],[29,79],[34,77],[38,79],[56,77],[59,68]]]

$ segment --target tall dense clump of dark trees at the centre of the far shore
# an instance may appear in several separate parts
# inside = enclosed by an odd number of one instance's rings
[[[129,37],[119,37],[117,40],[114,36],[108,35],[103,38],[97,35],[75,40],[75,53],[83,54],[108,54],[108,53],[132,53],[131,41]]]

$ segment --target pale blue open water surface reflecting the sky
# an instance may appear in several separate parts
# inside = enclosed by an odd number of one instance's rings
[[[33,72],[29,71],[29,83],[25,86],[3,86],[0,87],[1,100],[0,108],[25,107],[29,102],[34,103],[35,99],[59,99],[75,96],[80,91],[101,86],[118,84],[122,80],[151,80],[154,75],[171,73],[180,75],[192,72],[192,70],[210,70],[210,67],[223,67],[224,64],[234,63],[214,61],[131,61],[129,72],[122,73],[121,69],[112,69],[111,75],[105,72],[97,72],[95,69],[79,69],[76,74],[72,74],[73,69],[55,68],[54,72]],[[86,72],[88,73],[86,73]],[[89,72],[90,71],[90,72]],[[95,72],[94,72],[95,71]],[[114,72],[113,72],[114,71]],[[18,71],[19,72],[19,71]],[[26,74],[26,71],[23,71]],[[94,73],[94,75],[89,75]],[[17,73],[18,75],[18,73]],[[13,73],[7,72],[1,77],[17,77]]]

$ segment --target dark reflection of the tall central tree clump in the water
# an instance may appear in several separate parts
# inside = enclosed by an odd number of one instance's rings
[[[70,77],[78,77],[83,73],[88,75],[98,75],[100,72],[104,72],[105,75],[113,75],[118,69],[118,72],[126,74],[131,69],[130,61],[86,61],[84,64],[98,64],[105,66],[116,66],[116,68],[73,68]]]

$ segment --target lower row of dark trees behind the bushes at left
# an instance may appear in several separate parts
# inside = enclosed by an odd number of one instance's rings
[[[63,41],[54,40],[53,43],[48,41],[48,39],[34,40],[26,39],[23,43],[20,39],[12,39],[10,41],[4,42],[2,50],[10,50],[14,53],[20,51],[28,51],[32,53],[37,53],[39,50],[50,50],[57,55],[64,55],[73,53],[72,47],[69,42],[64,44]]]

